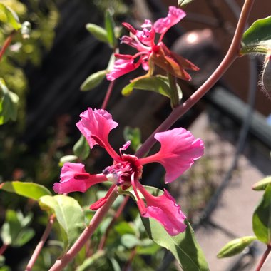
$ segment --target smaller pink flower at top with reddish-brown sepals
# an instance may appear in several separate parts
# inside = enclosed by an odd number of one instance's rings
[[[123,26],[130,31],[130,36],[123,36],[121,43],[136,48],[138,53],[133,56],[116,54],[118,60],[115,62],[113,70],[106,75],[107,79],[115,80],[123,74],[136,70],[140,65],[145,71],[148,71],[149,62],[152,62],[173,76],[190,80],[191,77],[185,69],[198,71],[198,67],[170,51],[162,41],[168,29],[177,24],[185,15],[182,9],[170,6],[168,16],[158,19],[154,24],[150,20],[145,20],[141,25],[143,30],[136,30],[130,24],[123,23]],[[157,44],[155,44],[156,34],[160,34]]]

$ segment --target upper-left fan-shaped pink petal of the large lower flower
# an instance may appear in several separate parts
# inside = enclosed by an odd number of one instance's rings
[[[91,148],[98,144],[106,148],[107,152],[114,160],[119,160],[119,156],[108,143],[108,135],[118,123],[113,121],[112,116],[106,110],[88,108],[81,113],[81,120],[76,123],[78,129],[88,141]]]

